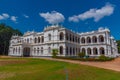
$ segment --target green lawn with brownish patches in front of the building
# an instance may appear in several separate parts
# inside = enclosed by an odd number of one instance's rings
[[[0,80],[66,80],[67,74],[68,80],[120,80],[120,72],[96,67],[33,58],[1,60],[10,62],[0,65]]]

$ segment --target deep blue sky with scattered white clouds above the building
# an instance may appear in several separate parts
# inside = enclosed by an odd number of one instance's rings
[[[0,23],[22,33],[59,23],[77,32],[107,27],[120,39],[119,0],[0,0]]]

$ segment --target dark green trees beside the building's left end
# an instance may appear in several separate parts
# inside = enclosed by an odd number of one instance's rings
[[[9,50],[9,41],[13,34],[22,35],[22,33],[13,29],[11,26],[0,23],[0,55],[7,55]]]

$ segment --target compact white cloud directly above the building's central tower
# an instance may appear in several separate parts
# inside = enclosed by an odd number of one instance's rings
[[[65,20],[64,15],[56,11],[39,13],[39,15],[49,22],[49,24],[58,24]]]

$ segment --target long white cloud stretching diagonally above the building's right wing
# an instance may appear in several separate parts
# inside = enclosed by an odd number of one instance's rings
[[[69,17],[69,21],[79,22],[80,20],[93,18],[94,21],[97,22],[105,16],[110,16],[111,14],[113,14],[113,12],[114,12],[113,5],[107,3],[101,9],[90,9],[89,11],[86,11],[82,14]]]

